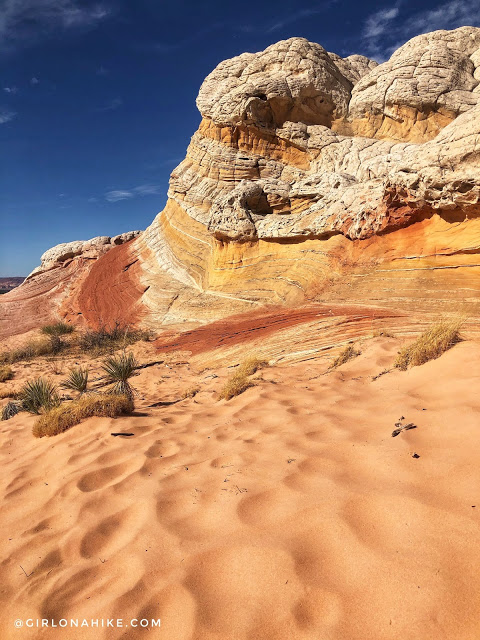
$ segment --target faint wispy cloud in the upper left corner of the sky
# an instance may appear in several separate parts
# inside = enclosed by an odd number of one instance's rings
[[[100,2],[81,0],[3,0],[0,47],[11,49],[74,28],[91,28],[109,15]]]

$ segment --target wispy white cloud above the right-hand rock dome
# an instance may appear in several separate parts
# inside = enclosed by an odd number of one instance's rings
[[[480,0],[448,0],[432,9],[402,15],[401,3],[384,7],[365,20],[362,30],[364,52],[379,62],[411,38],[462,26],[480,26]]]

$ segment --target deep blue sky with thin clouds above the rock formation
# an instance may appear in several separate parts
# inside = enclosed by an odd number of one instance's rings
[[[0,0],[0,276],[59,242],[148,226],[221,60],[302,36],[382,61],[467,24],[480,0]]]

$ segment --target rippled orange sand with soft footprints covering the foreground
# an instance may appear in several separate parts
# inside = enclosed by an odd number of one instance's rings
[[[375,378],[409,337],[369,322],[333,371],[313,321],[236,351],[139,343],[158,363],[133,378],[134,415],[40,440],[32,416],[1,422],[0,637],[478,640],[480,342]],[[262,350],[256,385],[218,400]],[[75,362],[14,365],[0,388]],[[417,428],[393,438],[401,417]],[[27,618],[161,628],[14,627]]]

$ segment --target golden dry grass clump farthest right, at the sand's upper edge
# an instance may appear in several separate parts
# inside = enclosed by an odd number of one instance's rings
[[[454,344],[461,341],[461,320],[440,320],[424,331],[412,344],[398,352],[394,366],[406,371],[429,360],[439,358]]]

